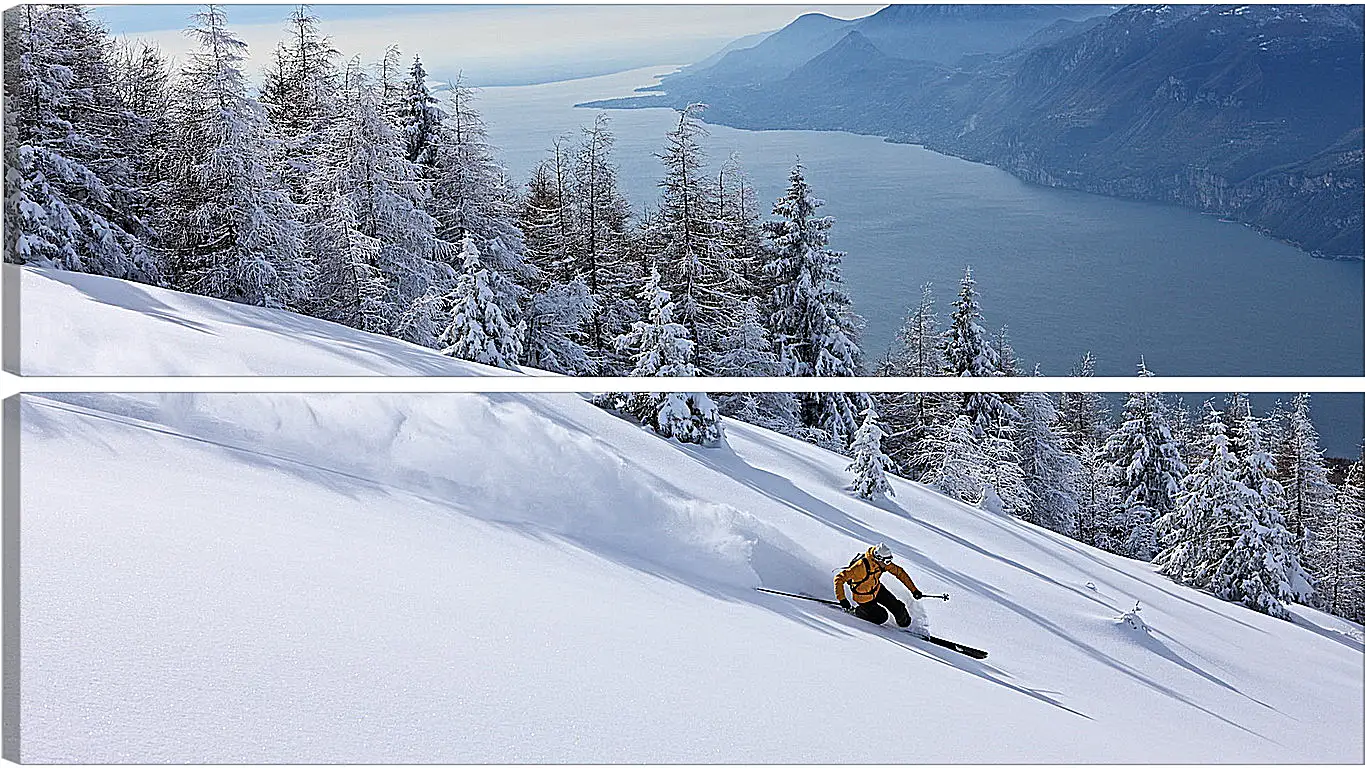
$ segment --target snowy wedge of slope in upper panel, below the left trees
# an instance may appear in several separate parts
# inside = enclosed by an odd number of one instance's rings
[[[15,372],[30,376],[508,374],[295,312],[112,277],[7,263],[4,280],[20,297]]]

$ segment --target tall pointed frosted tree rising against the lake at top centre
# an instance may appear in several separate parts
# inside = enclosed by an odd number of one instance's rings
[[[704,166],[699,115],[703,105],[680,110],[663,151],[659,210],[647,233],[662,285],[673,296],[677,322],[698,344],[698,367],[711,372],[711,353],[743,295],[741,276],[719,237],[715,196]]]

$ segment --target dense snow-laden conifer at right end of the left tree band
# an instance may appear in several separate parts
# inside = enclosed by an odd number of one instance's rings
[[[773,206],[778,218],[764,224],[773,250],[767,269],[774,285],[771,329],[779,359],[792,376],[857,375],[863,368],[861,321],[844,291],[844,254],[827,248],[834,218],[816,216],[824,201],[812,194],[800,162],[788,179],[786,194]],[[801,422],[846,445],[857,431],[857,413],[865,401],[857,393],[804,394]]]

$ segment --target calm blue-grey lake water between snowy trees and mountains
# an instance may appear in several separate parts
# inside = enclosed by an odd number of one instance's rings
[[[670,65],[480,94],[489,132],[524,183],[556,136],[598,110],[575,104],[629,95]],[[654,206],[655,157],[670,109],[609,110],[622,191]],[[1242,225],[1156,203],[1026,184],[988,165],[875,136],[741,131],[710,125],[713,166],[738,153],[764,206],[800,157],[831,246],[867,321],[868,359],[886,349],[919,286],[932,282],[946,321],[962,269],[977,281],[990,327],[1009,325],[1020,357],[1066,374],[1087,351],[1099,375],[1130,375],[1138,356],[1162,375],[1362,375],[1365,263],[1309,258]],[[1334,453],[1362,437],[1360,396],[1317,398]]]

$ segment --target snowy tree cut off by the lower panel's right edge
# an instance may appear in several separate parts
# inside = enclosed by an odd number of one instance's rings
[[[1319,521],[1313,561],[1323,608],[1365,622],[1365,450],[1336,490],[1336,503]]]

